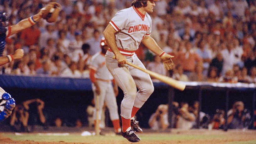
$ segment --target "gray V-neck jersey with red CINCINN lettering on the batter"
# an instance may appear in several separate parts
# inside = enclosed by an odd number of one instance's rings
[[[143,15],[137,8],[130,7],[118,11],[109,22],[116,31],[118,48],[135,51],[144,36],[150,36],[152,20],[149,14]]]

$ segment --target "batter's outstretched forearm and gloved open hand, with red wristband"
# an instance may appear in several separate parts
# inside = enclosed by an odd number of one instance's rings
[[[171,58],[174,56],[164,53],[164,51],[158,46],[156,41],[151,36],[145,36],[142,40],[142,43],[153,53],[156,55],[159,55],[162,59],[162,62],[164,63],[165,69],[172,69],[172,66],[174,65]]]

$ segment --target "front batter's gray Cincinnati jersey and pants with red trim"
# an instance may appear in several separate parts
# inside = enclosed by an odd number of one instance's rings
[[[135,51],[145,36],[150,36],[152,20],[149,14],[143,15],[135,7],[120,10],[109,22],[117,31],[115,33],[116,45],[127,62],[145,69],[138,59]],[[133,106],[141,108],[153,93],[154,87],[148,74],[127,64],[118,64],[113,59],[114,53],[109,49],[106,53],[106,66],[113,75],[118,86],[124,91],[121,103],[121,116],[131,118]],[[137,91],[136,87],[139,89]]]

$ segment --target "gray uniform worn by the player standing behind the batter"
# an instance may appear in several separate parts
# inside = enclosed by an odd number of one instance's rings
[[[105,56],[101,52],[96,53],[92,57],[91,65],[89,66],[90,69],[94,69],[95,78],[97,84],[100,88],[100,95],[99,95],[99,119],[101,119],[102,108],[104,102],[106,102],[106,106],[109,109],[110,119],[116,120],[119,119],[116,97],[114,94],[114,89],[112,86],[111,80],[113,80],[113,76],[110,74],[109,70],[106,67],[105,63]],[[92,83],[92,90],[94,93],[94,99],[96,99],[96,87],[94,83]],[[93,113],[93,119],[96,119],[96,111]]]

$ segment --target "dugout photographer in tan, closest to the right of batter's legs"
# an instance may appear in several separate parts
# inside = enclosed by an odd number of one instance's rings
[[[165,130],[169,126],[168,105],[159,105],[156,112],[151,115],[148,125],[152,130]]]

